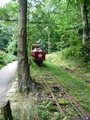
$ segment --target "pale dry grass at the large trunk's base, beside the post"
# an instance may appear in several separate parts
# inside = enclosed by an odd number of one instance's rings
[[[14,120],[39,120],[37,109],[35,109],[35,97],[31,93],[28,97],[18,93],[17,95],[19,95],[17,98],[19,103],[12,107]]]

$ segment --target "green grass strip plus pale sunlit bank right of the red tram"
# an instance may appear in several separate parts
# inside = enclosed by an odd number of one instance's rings
[[[60,84],[80,102],[86,112],[90,113],[90,84],[80,77],[71,74],[64,68],[74,69],[78,73],[90,74],[90,69],[77,68],[77,64],[73,61],[62,60],[59,53],[53,53],[47,57],[45,67],[57,76]],[[65,63],[64,63],[65,62]],[[79,63],[80,64],[80,63]]]

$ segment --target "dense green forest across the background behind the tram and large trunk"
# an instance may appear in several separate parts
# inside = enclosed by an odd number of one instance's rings
[[[85,4],[87,28],[82,17]],[[47,53],[60,51],[65,59],[90,62],[90,3],[73,0],[28,0],[28,55],[31,45],[40,42]],[[86,31],[86,44],[83,33]],[[16,59],[18,40],[18,1],[0,8],[0,67]]]

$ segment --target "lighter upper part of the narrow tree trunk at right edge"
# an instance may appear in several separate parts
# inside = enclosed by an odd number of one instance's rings
[[[89,27],[88,27],[88,16],[87,16],[87,4],[84,1],[81,3],[81,15],[83,25],[83,46],[85,48],[89,45]]]

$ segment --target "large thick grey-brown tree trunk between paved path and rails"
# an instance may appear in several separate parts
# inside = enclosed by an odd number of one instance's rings
[[[27,56],[27,0],[19,0],[18,26],[18,85],[19,91],[24,92],[32,83]]]

